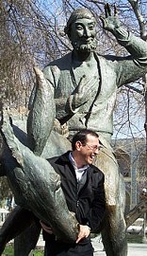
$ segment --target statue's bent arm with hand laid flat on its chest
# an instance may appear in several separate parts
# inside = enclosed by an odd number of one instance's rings
[[[90,100],[91,84],[93,83],[91,81],[93,78],[88,81],[85,76],[81,77],[71,94],[60,97],[57,87],[60,70],[57,66],[47,66],[43,73],[49,86],[52,86],[55,91],[56,118],[63,124],[68,119],[71,119],[83,104]]]

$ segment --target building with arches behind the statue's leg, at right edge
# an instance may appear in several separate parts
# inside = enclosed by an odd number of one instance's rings
[[[112,147],[124,177],[127,213],[139,203],[142,190],[147,189],[146,139],[113,139]]]

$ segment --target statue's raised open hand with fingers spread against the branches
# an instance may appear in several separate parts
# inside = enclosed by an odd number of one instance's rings
[[[116,6],[114,6],[114,14],[112,14],[109,5],[106,3],[105,12],[106,12],[106,16],[104,16],[104,15],[100,16],[100,19],[103,22],[103,27],[106,30],[113,32],[116,28],[121,26],[120,20],[118,17],[117,8],[116,8]]]

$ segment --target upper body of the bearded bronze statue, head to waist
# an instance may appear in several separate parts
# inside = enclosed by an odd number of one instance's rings
[[[68,123],[70,135],[90,128],[110,141],[117,89],[146,73],[147,44],[121,27],[116,9],[113,16],[106,5],[106,18],[101,19],[131,55],[97,54],[95,18],[89,9],[75,9],[65,27],[73,51],[48,64],[43,73],[54,90],[56,117]]]

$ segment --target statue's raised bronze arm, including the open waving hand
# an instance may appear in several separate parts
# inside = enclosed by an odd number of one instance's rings
[[[130,56],[122,57],[116,64],[117,85],[135,82],[147,72],[147,43],[121,26],[116,7],[114,15],[108,4],[105,5],[105,11],[106,16],[100,17],[104,29],[110,31],[118,43],[130,53]]]

